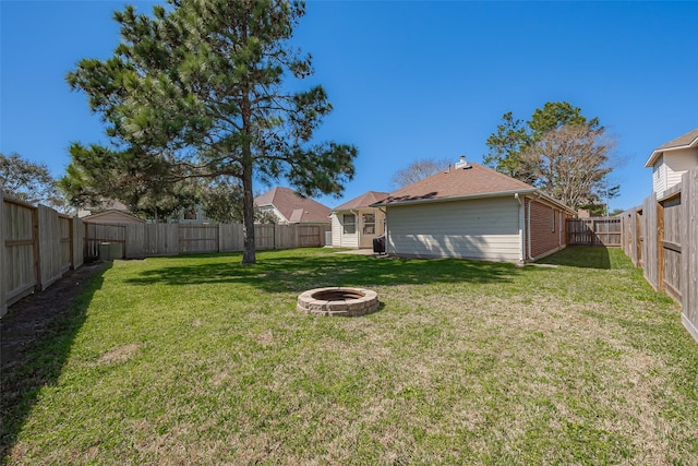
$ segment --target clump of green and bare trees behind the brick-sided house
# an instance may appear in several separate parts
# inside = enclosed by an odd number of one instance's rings
[[[485,165],[542,188],[570,207],[618,194],[619,187],[605,188],[614,141],[598,118],[587,119],[569,103],[549,101],[527,122],[506,112],[486,144]]]

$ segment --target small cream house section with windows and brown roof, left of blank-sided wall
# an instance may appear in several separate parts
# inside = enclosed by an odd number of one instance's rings
[[[332,246],[371,248],[373,239],[385,232],[385,213],[372,204],[387,192],[368,191],[332,210]]]

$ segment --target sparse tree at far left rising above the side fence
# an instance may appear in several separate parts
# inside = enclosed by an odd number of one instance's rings
[[[44,204],[62,211],[65,202],[46,164],[36,164],[13,153],[0,153],[0,189],[31,204]]]

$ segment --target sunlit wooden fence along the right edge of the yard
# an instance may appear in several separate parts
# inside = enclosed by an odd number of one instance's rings
[[[623,250],[654,289],[682,304],[682,322],[698,340],[698,167],[621,217]]]

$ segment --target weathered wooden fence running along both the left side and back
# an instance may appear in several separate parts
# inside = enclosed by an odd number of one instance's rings
[[[321,247],[329,225],[256,225],[256,248]],[[103,243],[122,258],[242,251],[242,225],[93,224],[0,191],[0,316],[70,268],[97,258]]]

